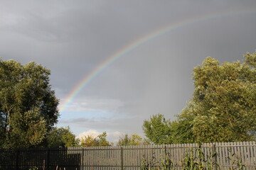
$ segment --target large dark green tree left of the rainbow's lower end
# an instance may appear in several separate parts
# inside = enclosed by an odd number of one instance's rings
[[[0,60],[0,147],[36,147],[58,119],[50,70]]]

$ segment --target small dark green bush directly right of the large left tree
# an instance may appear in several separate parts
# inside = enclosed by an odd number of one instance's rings
[[[79,140],[70,128],[53,128],[46,137],[46,147],[77,147]]]

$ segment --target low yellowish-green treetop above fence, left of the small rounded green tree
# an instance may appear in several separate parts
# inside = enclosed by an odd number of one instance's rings
[[[129,145],[146,145],[145,140],[137,134],[132,134],[130,137],[125,134],[124,137],[120,137],[117,142],[117,146],[129,146]]]

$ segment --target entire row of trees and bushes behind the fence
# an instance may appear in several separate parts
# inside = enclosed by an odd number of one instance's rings
[[[136,134],[124,135],[117,145],[255,140],[256,53],[244,58],[220,64],[207,57],[193,69],[193,97],[177,120],[153,115],[143,124],[148,141]],[[58,99],[49,76],[50,70],[35,62],[0,60],[0,148],[113,145],[107,132],[79,141],[70,128],[53,128]]]

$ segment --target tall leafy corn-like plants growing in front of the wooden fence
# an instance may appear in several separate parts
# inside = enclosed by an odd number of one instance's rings
[[[242,159],[238,154],[232,153],[228,150],[231,156],[228,156],[229,169],[245,169],[245,164],[243,164]],[[210,154],[204,153],[201,145],[199,144],[197,148],[188,149],[183,153],[183,158],[181,162],[176,164],[176,159],[174,155],[167,152],[164,149],[164,154],[160,158],[155,157],[155,153],[151,154],[151,157],[143,156],[141,159],[141,170],[172,170],[176,169],[178,165],[182,166],[183,170],[213,170],[220,169],[218,162],[216,162],[218,153],[213,152]]]

